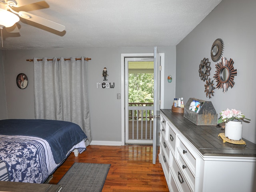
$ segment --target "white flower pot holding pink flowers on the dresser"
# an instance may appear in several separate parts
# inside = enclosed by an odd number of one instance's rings
[[[228,137],[228,139],[242,139],[242,131],[242,121],[228,121],[228,123],[225,123],[225,137]]]

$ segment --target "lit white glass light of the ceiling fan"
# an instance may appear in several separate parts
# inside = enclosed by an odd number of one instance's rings
[[[0,25],[4,27],[12,27],[14,24],[16,24],[20,18],[16,16],[15,14],[4,10],[0,9]]]

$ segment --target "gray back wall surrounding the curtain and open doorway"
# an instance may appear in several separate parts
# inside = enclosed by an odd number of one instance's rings
[[[164,84],[165,106],[170,108],[175,96],[176,47],[158,47],[165,53],[166,82]],[[90,57],[88,62],[88,86],[93,141],[121,141],[121,53],[154,53],[154,47],[86,48],[86,49],[40,49],[4,51],[4,73],[6,84],[8,118],[34,119],[33,57]],[[108,82],[114,89],[100,89],[96,82],[103,82],[102,70],[107,67]],[[28,86],[21,90],[16,85],[16,76],[25,73]],[[2,74],[2,73],[1,73]],[[173,82],[167,83],[168,74]],[[50,82],[49,82],[50,83]]]

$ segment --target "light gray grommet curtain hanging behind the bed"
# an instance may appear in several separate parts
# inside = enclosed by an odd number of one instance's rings
[[[87,61],[84,57],[34,58],[35,118],[70,121],[80,125],[92,141],[87,85]]]

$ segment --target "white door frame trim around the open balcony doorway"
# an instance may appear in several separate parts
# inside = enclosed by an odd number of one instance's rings
[[[124,59],[125,57],[154,57],[154,53],[121,53],[121,145],[125,145],[125,74]],[[160,53],[161,59],[161,90],[160,100],[164,106],[164,53]],[[160,106],[161,108],[161,106]]]

